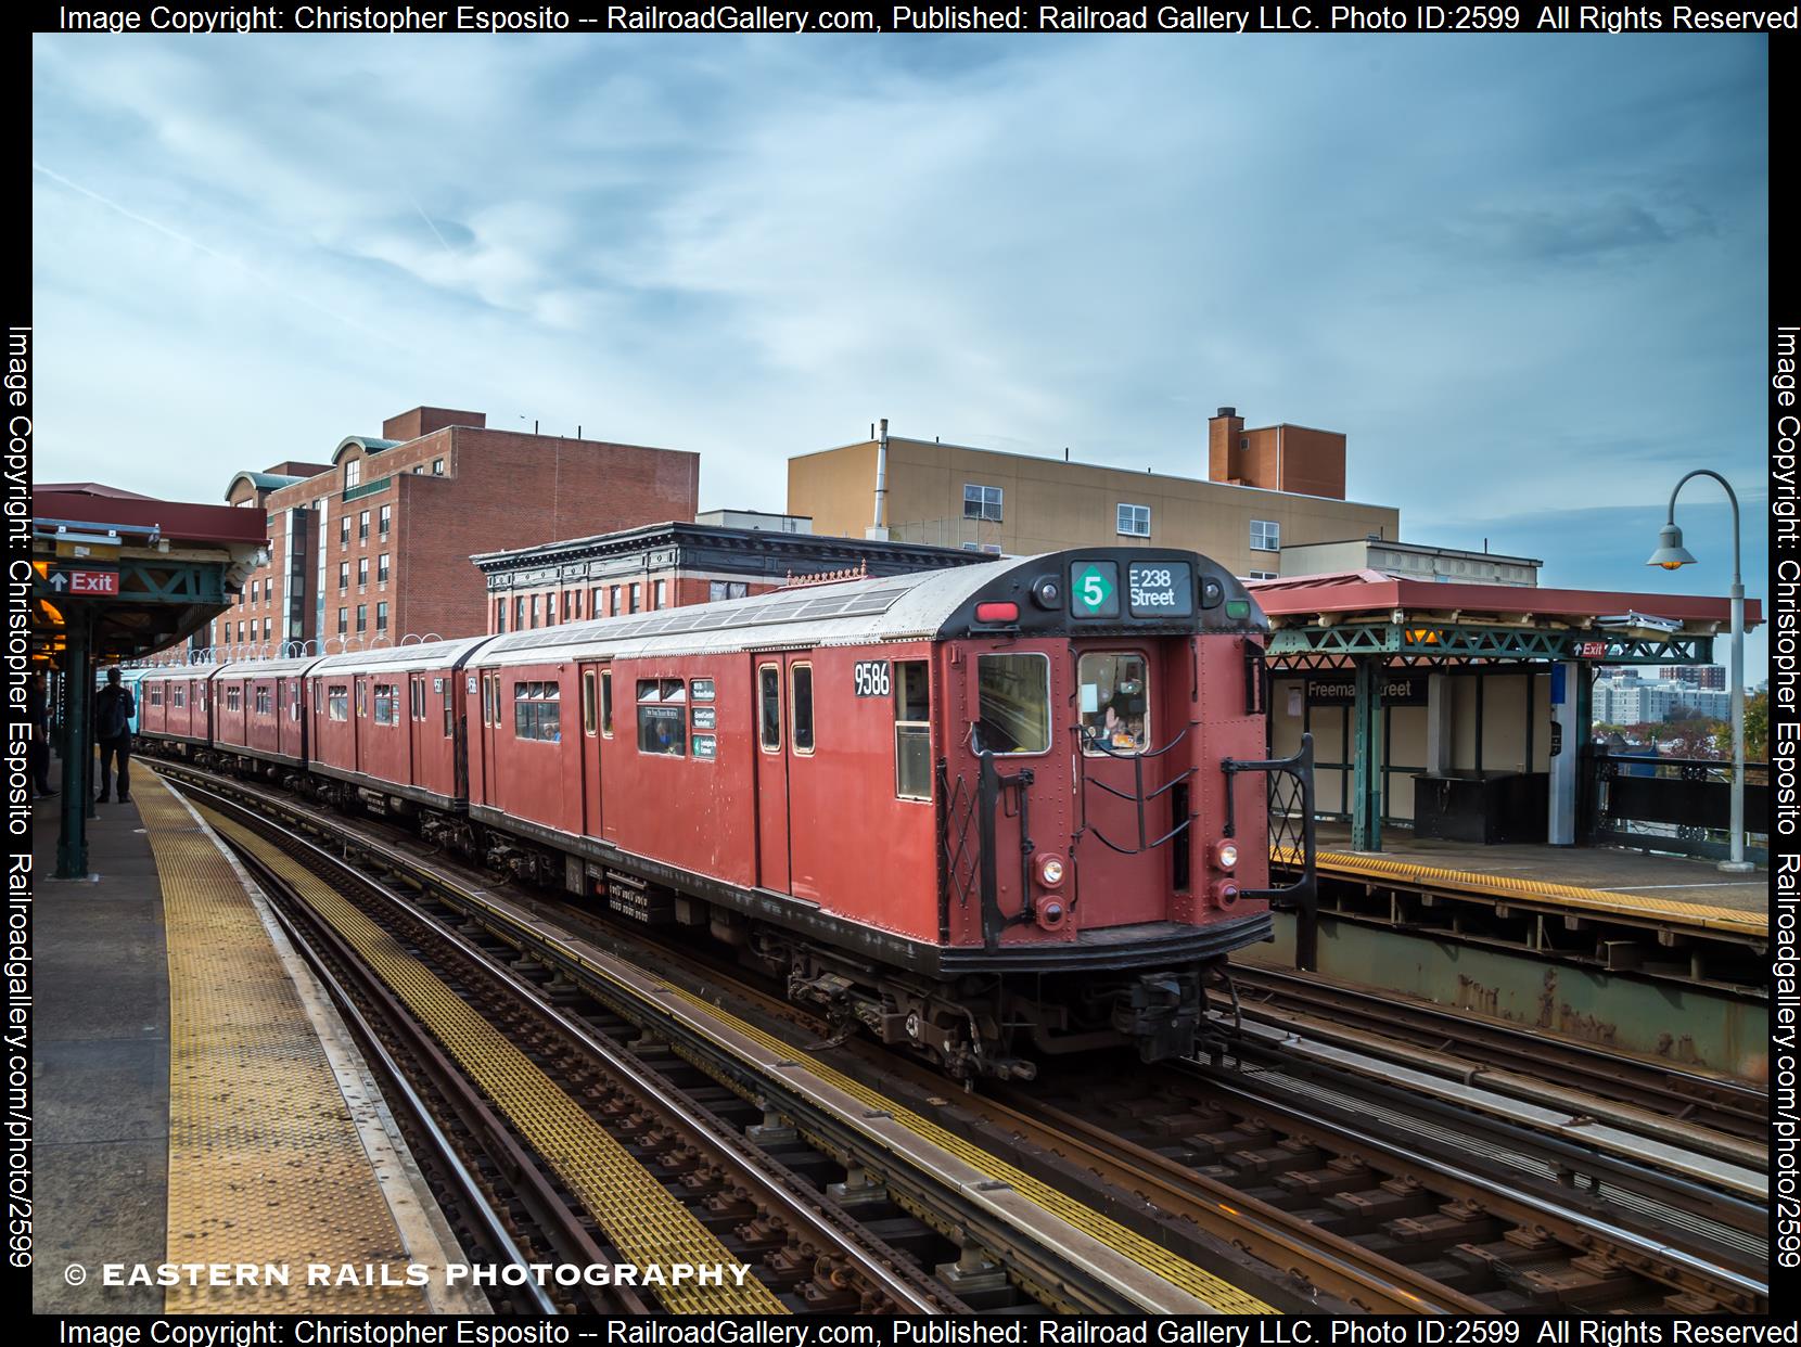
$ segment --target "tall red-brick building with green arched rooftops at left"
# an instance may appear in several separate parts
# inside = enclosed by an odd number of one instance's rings
[[[493,430],[483,412],[414,407],[346,436],[328,465],[240,472],[227,501],[268,517],[268,564],[196,646],[216,657],[475,636],[470,553],[692,519],[701,457]]]

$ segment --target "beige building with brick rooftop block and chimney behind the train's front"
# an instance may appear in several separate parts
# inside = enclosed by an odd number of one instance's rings
[[[1196,459],[1199,459],[1196,447]],[[1345,438],[1208,421],[1210,481],[891,436],[789,459],[791,515],[814,533],[1027,556],[1061,547],[1190,547],[1250,578],[1284,546],[1394,538],[1401,513],[1344,499]]]

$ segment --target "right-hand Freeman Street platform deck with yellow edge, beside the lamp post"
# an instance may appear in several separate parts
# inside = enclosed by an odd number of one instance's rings
[[[1612,846],[1543,846],[1441,841],[1390,830],[1381,852],[1353,852],[1351,828],[1320,823],[1322,877],[1376,879],[1421,891],[1441,890],[1545,904],[1597,918],[1769,940],[1770,877],[1720,872],[1711,861]]]

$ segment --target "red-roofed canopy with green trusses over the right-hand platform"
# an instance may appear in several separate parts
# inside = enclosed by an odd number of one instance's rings
[[[1401,580],[1383,571],[1252,580],[1270,618],[1272,664],[1336,668],[1475,659],[1707,664],[1733,623],[1731,600]],[[1761,609],[1745,603],[1745,625]]]

